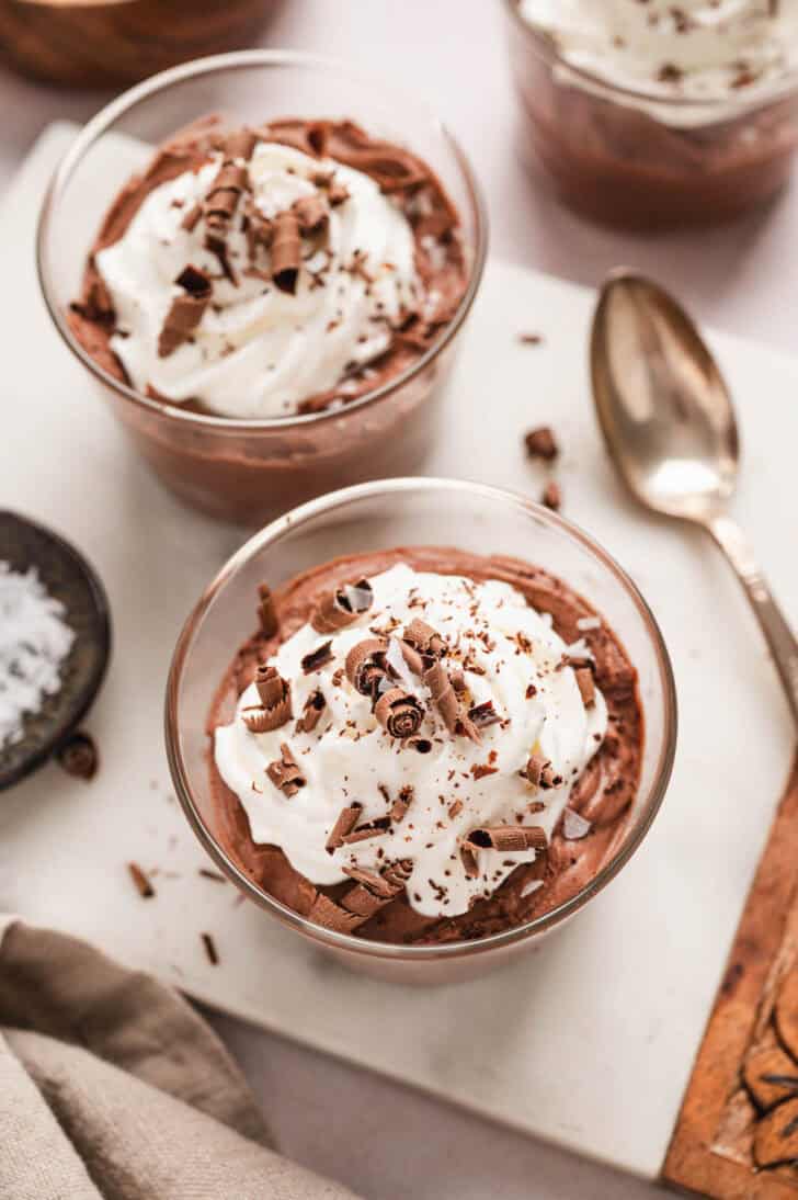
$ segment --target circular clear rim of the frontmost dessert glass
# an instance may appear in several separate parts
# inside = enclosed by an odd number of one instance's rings
[[[278,900],[275,900],[274,896],[270,896],[266,892],[257,887],[257,884],[254,884],[252,880],[250,880],[244,871],[236,866],[232,858],[228,857],[224,848],[209,830],[199,809],[194,804],[191,785],[188,782],[188,773],[180,750],[179,738],[180,683],[185,664],[191,654],[194,630],[203,620],[206,611],[214,604],[216,596],[236,576],[239,570],[269,546],[278,542],[284,535],[292,533],[322,514],[334,514],[336,511],[344,510],[353,502],[383,496],[401,497],[413,491],[438,493],[442,497],[442,503],[445,503],[444,498],[446,496],[451,497],[455,492],[467,491],[472,498],[481,497],[486,502],[492,500],[509,504],[527,516],[534,517],[536,521],[541,521],[550,528],[565,534],[568,538],[586,548],[594,559],[598,559],[605,570],[608,570],[616,577],[642,618],[654,649],[664,702],[662,743],[653,781],[643,802],[644,811],[641,814],[640,821],[631,835],[624,840],[624,844],[617,853],[613,854],[610,862],[607,862],[598,875],[595,875],[576,895],[557,905],[548,912],[535,917],[533,920],[529,920],[523,925],[517,925],[512,929],[503,930],[499,934],[492,934],[488,937],[482,937],[475,941],[449,942],[444,946],[397,946],[392,942],[365,941],[353,936],[352,934],[338,934],[329,929],[323,929],[320,925],[301,917],[287,905],[281,904]],[[230,655],[234,650],[235,648],[230,650]],[[215,686],[217,680],[212,680],[209,686],[209,703],[212,686]],[[180,632],[180,637],[178,638],[167,682],[164,731],[167,758],[172,772],[172,779],[184,812],[188,818],[188,823],[215,863],[246,896],[254,900],[259,907],[272,913],[284,925],[304,934],[312,941],[320,941],[330,947],[370,958],[394,960],[407,959],[414,962],[421,962],[432,959],[437,960],[484,954],[487,950],[511,946],[512,943],[524,941],[533,935],[542,934],[545,930],[559,924],[566,917],[570,917],[572,913],[582,908],[594,895],[601,892],[612,878],[614,878],[614,876],[629,862],[648,833],[665,797],[676,754],[677,698],[671,659],[652,610],[624,569],[614,560],[614,558],[612,558],[611,554],[607,553],[607,551],[599,546],[599,544],[594,541],[588,533],[572,522],[566,521],[558,514],[552,512],[550,509],[542,508],[540,504],[535,504],[534,502],[527,499],[518,492],[493,487],[487,484],[469,482],[468,480],[402,478],[377,480],[370,484],[359,484],[354,487],[344,487],[336,492],[330,492],[319,499],[310,500],[308,503],[286,512],[276,521],[265,526],[259,533],[250,538],[248,541],[246,541],[241,548],[227,560],[216,577],[205,588],[203,595],[186,620]]]

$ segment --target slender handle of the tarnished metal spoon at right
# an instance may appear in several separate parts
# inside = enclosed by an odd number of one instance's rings
[[[734,568],[745,589],[754,616],[762,626],[787,703],[798,725],[798,641],[773,599],[762,571],[756,564],[743,530],[725,514],[713,517],[708,529]]]

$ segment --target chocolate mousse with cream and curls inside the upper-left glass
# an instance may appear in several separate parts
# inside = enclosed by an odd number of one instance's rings
[[[414,365],[469,268],[416,155],[349,120],[196,122],[107,214],[72,331],[114,379],[259,420],[350,403]]]

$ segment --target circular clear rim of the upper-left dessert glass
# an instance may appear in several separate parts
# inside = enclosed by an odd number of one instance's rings
[[[186,412],[179,404],[166,404],[149,396],[144,396],[134,388],[130,388],[127,384],[108,374],[108,372],[104,371],[100,364],[86,353],[86,350],[84,350],[73,336],[66,322],[64,308],[60,305],[58,296],[54,295],[48,268],[48,235],[52,216],[56,210],[59,199],[64,188],[70,182],[73,172],[79,167],[86,151],[90,150],[106,132],[108,132],[115,121],[133,109],[142,101],[149,100],[151,96],[170,88],[173,84],[182,83],[186,79],[192,79],[203,74],[212,74],[220,71],[238,71],[258,66],[276,68],[314,67],[319,71],[336,72],[349,79],[358,80],[364,86],[372,85],[382,96],[385,96],[386,94],[392,95],[396,100],[397,110],[401,110],[402,104],[410,104],[416,112],[424,112],[427,120],[432,122],[443,142],[448,145],[455,162],[457,163],[457,168],[461,172],[466,185],[466,192],[468,194],[468,203],[473,210],[475,236],[468,286],[457,306],[457,311],[451,320],[440,330],[436,341],[428,347],[427,350],[425,350],[421,358],[413,362],[406,371],[388,379],[386,383],[377,388],[374,391],[366,392],[366,395],[352,401],[344,409],[336,408],[328,409],[322,413],[305,413],[292,416],[252,420],[218,416],[212,413]],[[132,401],[139,408],[144,408],[151,413],[158,413],[167,420],[176,422],[182,421],[188,425],[200,425],[205,428],[212,428],[216,432],[223,433],[226,431],[240,432],[241,430],[269,428],[286,430],[298,425],[314,425],[334,420],[336,418],[340,419],[344,412],[348,414],[359,408],[367,408],[370,404],[374,404],[378,401],[392,395],[395,391],[398,391],[410,379],[414,379],[418,374],[425,371],[425,368],[428,367],[440,352],[452,341],[470,311],[479,290],[482,271],[485,269],[487,241],[488,217],[482,188],[474,174],[466,151],[460,145],[460,142],[432,112],[432,109],[427,109],[426,106],[419,104],[415,100],[406,96],[398,89],[390,86],[386,88],[383,82],[374,78],[374,76],[358,71],[356,68],[350,67],[347,62],[342,62],[334,58],[328,58],[320,54],[305,54],[299,50],[232,50],[227,54],[214,54],[202,59],[193,59],[192,61],[185,62],[180,66],[170,67],[168,71],[160,71],[157,74],[151,76],[143,83],[136,84],[133,88],[128,88],[127,91],[124,91],[115,100],[110,101],[110,103],[106,104],[104,108],[101,108],[100,112],[91,118],[59,163],[44,193],[36,228],[36,269],[38,274],[38,284],[44,298],[47,311],[49,312],[50,319],[53,320],[53,324],[55,325],[62,341],[66,343],[68,349],[72,350],[76,358],[78,358],[80,362],[83,362],[83,365],[107,388],[110,388],[126,400]]]

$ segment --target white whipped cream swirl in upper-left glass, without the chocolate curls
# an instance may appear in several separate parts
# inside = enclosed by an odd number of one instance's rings
[[[259,142],[246,167],[252,203],[264,218],[323,196],[317,181],[330,173],[348,198],[329,208],[323,244],[302,239],[293,294],[268,277],[265,250],[259,253],[266,269],[247,274],[246,230],[236,215],[226,239],[232,281],[205,248],[204,223],[185,228],[222,161],[215,154],[198,172],[155,187],[122,236],[97,252],[116,314],[110,346],[139,391],[152,389],[174,403],[198,400],[222,416],[286,416],[383,354],[392,329],[422,307],[413,230],[362,172]],[[162,356],[158,340],[187,264],[210,277],[211,301],[191,338]]]

